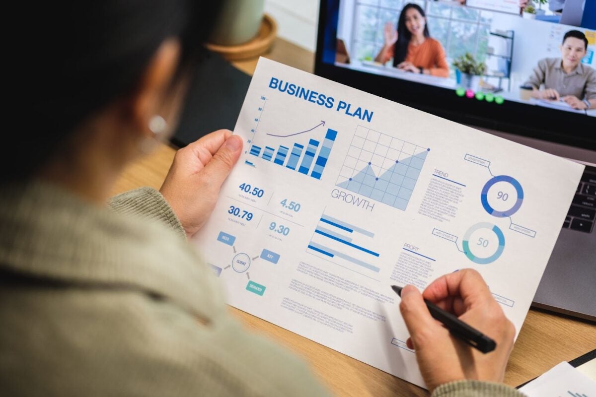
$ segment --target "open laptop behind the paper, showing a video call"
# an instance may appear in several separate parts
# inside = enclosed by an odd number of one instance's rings
[[[596,321],[596,109],[538,106],[520,95],[520,85],[538,61],[559,55],[557,48],[564,33],[579,26],[583,0],[566,1],[556,29],[547,21],[526,20],[498,10],[480,10],[458,2],[416,1],[426,14],[430,37],[441,43],[449,64],[449,77],[440,84],[423,79],[427,76],[417,80],[411,73],[400,77],[367,67],[383,47],[383,27],[387,22],[396,26],[408,2],[413,1],[364,4],[322,0],[315,74],[584,164],[585,173],[561,225],[533,306]],[[478,24],[483,29],[477,29]],[[551,33],[532,34],[537,31]],[[340,43],[339,52],[350,48],[350,64],[336,61],[336,43]],[[588,50],[596,51],[596,45],[591,42]],[[511,78],[493,76],[490,68],[482,76],[486,83],[505,87],[503,92],[488,95],[477,88],[483,95],[468,97],[465,90],[457,89],[452,61],[467,52],[487,65],[494,64],[495,57],[508,60]],[[594,68],[596,57],[587,58],[589,63],[584,65]],[[496,95],[501,96],[500,105],[495,105]],[[548,200],[548,195],[544,199]]]

